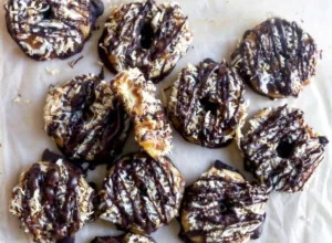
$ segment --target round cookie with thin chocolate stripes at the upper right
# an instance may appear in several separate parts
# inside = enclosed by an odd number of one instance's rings
[[[298,96],[315,73],[319,51],[295,22],[269,19],[248,30],[231,55],[231,64],[259,94]]]

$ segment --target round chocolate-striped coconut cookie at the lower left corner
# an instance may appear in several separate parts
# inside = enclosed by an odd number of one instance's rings
[[[62,159],[35,162],[14,187],[10,212],[35,242],[70,241],[93,220],[94,190]]]

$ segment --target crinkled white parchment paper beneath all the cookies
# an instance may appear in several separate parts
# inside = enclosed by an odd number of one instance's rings
[[[19,229],[17,218],[8,212],[10,194],[20,172],[40,159],[44,148],[58,151],[53,141],[43,131],[42,109],[46,89],[51,84],[61,84],[86,72],[100,72],[96,42],[101,35],[111,6],[128,1],[105,0],[105,12],[98,19],[101,30],[93,33],[82,53],[66,61],[39,63],[25,57],[6,30],[4,1],[0,0],[0,242],[25,243],[31,237]],[[167,87],[188,62],[197,64],[206,57],[229,60],[237,40],[242,33],[269,17],[295,20],[307,30],[323,50],[314,81],[299,98],[270,101],[247,88],[250,101],[249,117],[268,106],[284,103],[295,105],[305,112],[305,119],[317,131],[332,140],[332,3],[331,0],[178,0],[189,15],[195,33],[194,47],[181,59],[172,74],[158,85]],[[80,57],[74,68],[68,62]],[[46,72],[49,71],[49,73]],[[50,72],[51,71],[51,72]],[[53,72],[52,72],[53,71]],[[51,75],[53,73],[54,75]],[[106,81],[113,75],[106,72]],[[19,102],[20,101],[20,102]],[[137,150],[133,136],[124,154]],[[325,159],[318,167],[313,178],[301,193],[282,194],[273,192],[267,204],[267,220],[263,233],[257,243],[269,242],[332,242],[332,146],[326,147]],[[235,142],[227,148],[208,149],[188,144],[174,131],[174,148],[170,158],[186,178],[194,182],[220,159],[242,171],[242,159]],[[101,184],[105,167],[89,175],[90,181]],[[246,173],[248,178],[250,175]],[[179,225],[173,220],[152,236],[158,243],[180,242]],[[77,234],[77,243],[87,243],[95,235],[118,234],[110,223],[97,221],[86,224]]]

